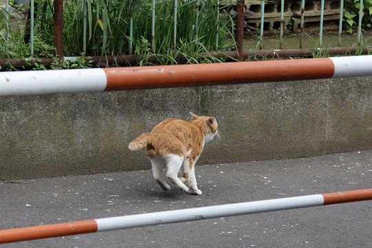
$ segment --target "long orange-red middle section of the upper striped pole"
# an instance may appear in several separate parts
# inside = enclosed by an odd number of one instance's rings
[[[105,90],[154,87],[259,83],[305,79],[329,79],[333,76],[331,59],[285,61],[249,61],[199,65],[167,65],[148,68],[104,68]]]

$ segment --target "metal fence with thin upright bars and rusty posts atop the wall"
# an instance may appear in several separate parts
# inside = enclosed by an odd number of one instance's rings
[[[87,0],[82,0],[83,2],[83,12],[84,12],[84,25],[83,25],[83,32],[84,32],[84,35],[83,35],[83,52],[86,51],[86,32],[87,32],[87,14],[86,14],[86,11],[87,11],[87,8],[85,8],[86,6],[86,1]],[[163,1],[163,0],[161,0]],[[177,23],[178,23],[178,19],[177,19],[177,12],[178,12],[178,0],[165,0],[165,1],[173,1],[174,2],[174,10],[173,10],[173,23],[172,25],[174,26],[174,30],[173,30],[173,48],[176,49],[176,45],[177,45]],[[289,1],[285,1],[285,0],[280,0],[280,1],[270,1],[270,0],[266,0],[266,1],[244,1],[244,0],[238,0],[238,1],[232,1],[232,0],[225,0],[225,1],[217,1],[217,6],[221,6],[221,5],[231,5],[231,6],[234,6],[234,8],[231,7],[231,12],[230,13],[233,13],[233,14],[236,14],[236,16],[234,16],[235,18],[235,21],[236,21],[236,32],[235,32],[235,39],[236,39],[236,51],[233,51],[233,52],[209,52],[207,54],[211,55],[211,56],[229,56],[230,58],[234,58],[234,59],[238,59],[238,60],[242,60],[244,59],[245,57],[247,56],[250,56],[250,55],[255,55],[255,54],[260,54],[262,56],[285,56],[285,55],[288,55],[288,56],[311,56],[313,50],[319,50],[319,49],[323,49],[323,36],[324,36],[324,33],[323,33],[323,30],[324,30],[324,27],[323,27],[323,23],[324,23],[324,10],[326,10],[326,6],[325,6],[325,0],[321,0],[320,1],[320,21],[319,21],[319,42],[318,42],[318,48],[308,48],[308,49],[304,49],[303,48],[303,37],[304,37],[304,30],[306,28],[306,25],[305,25],[305,15],[306,15],[306,4],[307,2],[304,1],[304,0],[301,0],[301,3],[300,3],[300,8],[298,9],[298,13],[300,13],[300,23],[298,24],[299,25],[299,32],[300,32],[300,37],[299,37],[299,49],[296,49],[296,50],[282,50],[282,45],[283,45],[283,31],[285,30],[285,26],[288,24],[286,22],[288,22],[288,18],[286,17],[286,8],[288,8],[288,3]],[[26,4],[28,4],[28,2],[30,2],[30,14],[29,14],[29,18],[30,18],[30,54],[31,56],[34,56],[34,0],[25,0],[25,1],[21,1],[19,0],[19,2],[25,2]],[[154,48],[154,37],[156,37],[156,22],[155,22],[155,10],[156,10],[156,7],[157,7],[157,3],[159,1],[156,1],[156,0],[152,0],[152,6],[151,6],[151,17],[152,17],[152,23],[151,23],[151,37],[152,37],[152,48]],[[197,7],[195,9],[195,15],[196,15],[196,19],[195,19],[195,27],[196,29],[198,28],[198,21],[199,21],[199,14],[198,14],[198,4],[200,3],[200,0],[194,0],[194,1],[190,1],[192,3],[196,3]],[[249,10],[249,2],[260,2],[260,4],[258,4],[259,8],[256,8],[256,12],[259,12],[260,13],[260,24],[257,28],[259,28],[259,49],[258,50],[254,50],[253,52],[252,51],[245,51],[243,49],[243,41],[244,41],[244,30],[245,30],[245,19],[247,19],[248,17],[248,20],[249,20],[249,13],[252,12],[252,10]],[[276,4],[276,13],[277,14],[280,14],[280,26],[279,26],[279,30],[280,30],[280,35],[279,35],[279,47],[278,47],[278,50],[280,51],[273,51],[273,50],[262,50],[263,48],[263,43],[265,42],[265,37],[264,37],[264,31],[265,31],[265,19],[268,18],[268,16],[270,14],[268,14],[268,12],[266,11],[265,9],[265,6],[272,6],[272,3],[275,3]],[[357,50],[359,50],[361,53],[365,53],[367,52],[366,49],[362,48],[362,17],[363,17],[363,14],[364,14],[364,5],[363,5],[363,0],[359,0],[359,12],[358,12],[358,36],[357,36],[357,39],[358,39],[358,47],[355,48],[355,47],[343,47],[343,48],[340,48],[341,45],[342,45],[342,37],[341,37],[341,34],[342,34],[342,25],[343,25],[343,19],[344,19],[344,0],[340,0],[340,13],[339,13],[339,21],[338,21],[338,46],[339,48],[327,48],[327,51],[329,52],[330,55],[334,55],[334,54],[344,54],[345,52],[349,53],[349,54],[355,54],[355,52]],[[7,24],[6,24],[6,36],[5,36],[5,39],[8,41],[9,39],[9,28],[10,28],[10,25],[9,25],[9,0],[6,0],[6,7],[5,7],[5,19],[7,21]],[[219,8],[216,8],[216,12],[219,12],[220,9]],[[218,17],[218,15],[217,15]],[[247,21],[246,21],[247,23]],[[128,25],[130,25],[130,31],[129,31],[129,46],[130,46],[130,51],[132,51],[132,44],[133,44],[133,41],[134,41],[134,37],[133,37],[133,19],[130,19],[130,22],[128,23]],[[76,58],[70,58],[70,57],[66,57],[64,58],[64,54],[63,54],[63,32],[62,32],[62,27],[63,27],[63,0],[55,0],[54,1],[54,45],[55,45],[55,48],[56,48],[56,56],[58,56],[60,59],[70,59],[70,60],[74,60]],[[247,29],[247,28],[246,28]],[[234,30],[232,31],[234,32]],[[198,35],[198,32],[196,32],[196,36]],[[197,37],[196,37],[197,38]],[[7,42],[8,44],[8,42]],[[8,46],[8,45],[7,45]],[[295,46],[295,45],[293,45]],[[216,36],[216,49],[218,48],[218,32],[217,32],[217,36]],[[8,51],[8,48],[6,48],[6,50]],[[87,55],[92,55],[92,54],[87,54]],[[120,61],[122,61],[123,64],[125,63],[131,63],[133,61],[135,61],[136,59],[134,59],[134,57],[132,56],[123,56],[121,59],[119,58],[120,56],[114,56],[114,60],[116,62],[119,62],[120,64]],[[110,56],[107,56],[105,57],[108,61],[110,61],[110,59],[112,59]],[[100,58],[99,57],[94,57],[93,58],[95,61],[99,61]],[[41,58],[39,59],[39,63],[45,63],[46,65],[48,65],[48,63],[50,64],[52,61],[52,59],[44,59],[44,58]],[[3,60],[0,60],[0,66],[2,66],[3,68],[6,68],[9,64],[12,64],[12,65],[21,65],[21,66],[25,66],[25,65],[32,65],[34,63],[34,59],[8,59],[6,61],[3,61]]]

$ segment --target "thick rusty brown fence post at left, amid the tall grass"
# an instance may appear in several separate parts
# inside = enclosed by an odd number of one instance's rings
[[[59,61],[63,61],[63,0],[54,0],[54,46]]]

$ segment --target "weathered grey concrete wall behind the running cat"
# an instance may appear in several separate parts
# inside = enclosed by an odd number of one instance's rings
[[[220,127],[199,165],[372,149],[371,79],[1,97],[0,180],[147,169],[127,144],[190,110]]]

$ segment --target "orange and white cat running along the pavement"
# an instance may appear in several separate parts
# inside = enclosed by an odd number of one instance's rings
[[[195,163],[205,143],[218,134],[218,124],[214,117],[190,114],[193,121],[169,118],[158,123],[150,133],[138,136],[128,147],[132,151],[147,149],[153,176],[162,189],[170,189],[166,177],[183,191],[200,195]],[[178,178],[181,167],[183,177]]]

